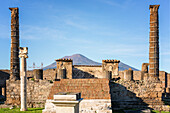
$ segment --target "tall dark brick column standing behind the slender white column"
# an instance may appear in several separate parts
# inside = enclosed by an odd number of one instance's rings
[[[10,58],[10,79],[18,80],[19,75],[19,9],[11,10],[11,58]]]

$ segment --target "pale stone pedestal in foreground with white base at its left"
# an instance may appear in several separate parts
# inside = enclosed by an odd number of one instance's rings
[[[80,93],[57,93],[46,103],[43,113],[79,113]]]

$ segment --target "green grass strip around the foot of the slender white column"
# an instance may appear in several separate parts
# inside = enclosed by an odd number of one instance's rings
[[[42,113],[44,108],[28,108],[27,111],[20,111],[20,108],[1,108],[0,113]]]

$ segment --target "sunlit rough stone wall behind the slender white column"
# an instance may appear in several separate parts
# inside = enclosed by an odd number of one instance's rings
[[[27,80],[28,107],[44,107],[52,85],[46,80]],[[20,80],[6,81],[6,104],[20,105]]]

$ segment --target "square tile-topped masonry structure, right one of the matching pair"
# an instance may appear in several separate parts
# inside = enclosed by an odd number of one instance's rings
[[[119,75],[120,60],[102,60],[103,78],[112,79]]]

